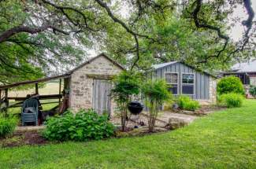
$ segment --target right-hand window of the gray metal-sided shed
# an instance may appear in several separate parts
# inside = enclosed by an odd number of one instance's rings
[[[183,74],[182,75],[182,94],[194,94],[195,85],[194,74]]]

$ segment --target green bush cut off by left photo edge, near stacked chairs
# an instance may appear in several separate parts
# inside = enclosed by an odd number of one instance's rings
[[[17,127],[17,118],[0,115],[0,138],[6,138],[6,136],[13,134],[15,127]]]

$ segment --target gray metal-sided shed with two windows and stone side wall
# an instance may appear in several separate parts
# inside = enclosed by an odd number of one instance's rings
[[[165,79],[174,95],[187,95],[198,101],[216,100],[216,77],[180,61],[153,66],[153,78]]]

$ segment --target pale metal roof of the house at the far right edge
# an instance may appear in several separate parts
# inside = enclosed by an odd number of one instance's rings
[[[244,63],[235,64],[231,68],[232,72],[256,72],[256,59]]]

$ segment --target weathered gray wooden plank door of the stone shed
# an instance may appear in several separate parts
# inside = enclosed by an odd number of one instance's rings
[[[100,115],[102,115],[103,112],[108,112],[110,114],[111,82],[105,79],[94,79],[93,84],[93,108]]]

